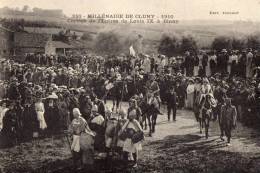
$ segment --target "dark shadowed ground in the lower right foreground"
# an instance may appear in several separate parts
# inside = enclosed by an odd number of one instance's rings
[[[172,135],[144,146],[140,161],[142,172],[182,173],[256,173],[260,158],[246,158],[240,153],[217,150],[222,142],[200,140],[197,135]],[[148,151],[146,151],[148,150]],[[258,162],[257,162],[258,160]]]

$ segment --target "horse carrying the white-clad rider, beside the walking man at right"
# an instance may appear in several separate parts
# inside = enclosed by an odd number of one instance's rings
[[[205,127],[205,136],[208,139],[209,122],[212,119],[212,108],[216,107],[216,101],[211,94],[200,94],[198,106],[199,112],[196,112],[196,115],[200,123],[200,133],[202,133],[202,128]]]

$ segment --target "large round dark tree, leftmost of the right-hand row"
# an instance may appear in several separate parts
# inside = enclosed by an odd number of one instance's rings
[[[158,52],[168,57],[174,56],[179,52],[179,43],[177,38],[174,36],[170,37],[168,35],[163,35],[158,47]]]

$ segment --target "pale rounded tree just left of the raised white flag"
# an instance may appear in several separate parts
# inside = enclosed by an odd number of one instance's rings
[[[114,55],[120,52],[122,45],[114,32],[101,32],[97,36],[95,49],[101,54]]]

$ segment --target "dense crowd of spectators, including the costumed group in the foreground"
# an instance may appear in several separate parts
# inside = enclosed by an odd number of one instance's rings
[[[197,95],[210,85],[205,92],[217,100],[213,119],[219,119],[230,98],[238,120],[248,126],[260,120],[260,55],[251,49],[187,51],[177,57],[28,54],[23,63],[1,60],[0,70],[1,147],[69,131],[74,158],[78,158],[84,132],[94,146],[81,153],[89,164],[94,149],[117,146],[125,160],[129,160],[125,153],[132,153],[136,165],[141,143],[133,144],[132,136],[146,128],[142,103],[148,103],[147,98],[157,99],[159,109],[166,104],[169,121],[171,113],[176,121],[177,109],[191,109],[196,115]],[[107,99],[113,100],[112,110],[106,106]],[[130,100],[128,111],[120,106],[122,100]],[[118,136],[127,136],[124,140],[112,140],[115,124],[120,127]]]

